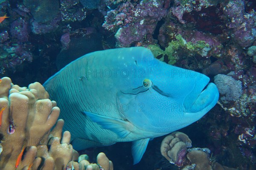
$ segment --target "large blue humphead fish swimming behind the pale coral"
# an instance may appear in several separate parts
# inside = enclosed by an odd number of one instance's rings
[[[209,77],[168,65],[144,47],[86,54],[44,83],[74,149],[132,142],[137,164],[150,139],[199,120],[217,103]]]

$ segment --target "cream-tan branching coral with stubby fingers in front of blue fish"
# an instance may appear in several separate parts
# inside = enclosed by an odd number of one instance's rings
[[[73,166],[76,170],[113,170],[104,153],[97,157],[99,165],[83,161],[82,156],[76,162],[79,154],[70,144],[70,132],[61,137],[64,121],[59,119],[50,131],[60,109],[40,83],[21,88],[8,77],[0,80],[0,169],[63,170]]]

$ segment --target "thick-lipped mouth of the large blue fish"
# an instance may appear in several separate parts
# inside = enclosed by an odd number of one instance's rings
[[[186,96],[183,106],[185,113],[204,113],[212,109],[218,101],[218,88],[213,83],[198,82]]]

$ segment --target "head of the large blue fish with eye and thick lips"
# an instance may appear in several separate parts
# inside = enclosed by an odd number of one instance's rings
[[[119,79],[116,98],[119,113],[134,126],[170,133],[196,122],[217,103],[218,88],[209,77],[161,62],[147,48],[129,49],[122,61],[128,76]]]

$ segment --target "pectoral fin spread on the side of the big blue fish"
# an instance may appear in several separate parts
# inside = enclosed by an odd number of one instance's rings
[[[93,122],[96,122],[102,126],[103,129],[109,129],[113,131],[120,138],[125,138],[129,133],[131,133],[133,125],[130,122],[112,117],[100,116],[86,111],[84,111],[84,114],[90,117]]]

